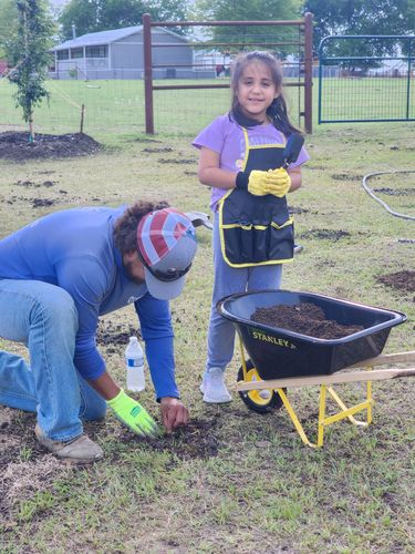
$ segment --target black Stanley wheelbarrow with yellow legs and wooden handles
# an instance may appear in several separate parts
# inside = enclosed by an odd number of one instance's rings
[[[362,330],[339,339],[321,339],[251,319],[257,308],[313,304],[326,319]],[[301,440],[309,447],[322,447],[324,429],[347,419],[355,425],[372,422],[372,381],[415,376],[415,367],[377,369],[391,363],[414,363],[415,351],[382,356],[392,327],[406,320],[405,314],[352,302],[312,293],[259,290],[231,295],[217,305],[218,311],[234,322],[240,342],[242,365],[237,389],[246,406],[266,413],[284,407]],[[246,357],[248,352],[248,358]],[[362,368],[361,371],[350,369]],[[344,371],[343,371],[344,370]],[[366,382],[365,401],[347,408],[334,391],[334,384]],[[320,387],[317,442],[307,437],[289,401],[290,387]],[[331,397],[341,411],[326,417],[326,399]],[[366,410],[366,421],[354,414]]]

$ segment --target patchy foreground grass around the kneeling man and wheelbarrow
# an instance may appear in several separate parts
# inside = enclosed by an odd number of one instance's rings
[[[159,142],[152,143],[139,133],[101,132],[94,136],[111,147],[93,157],[19,165],[0,161],[0,236],[50,211],[77,205],[166,198],[185,211],[208,212],[209,192],[197,182],[197,153],[189,145],[193,123],[180,133],[187,135],[157,134],[151,140]],[[415,238],[414,222],[388,215],[363,191],[361,179],[374,171],[414,170],[414,144],[411,124],[318,127],[307,137],[311,162],[304,185],[289,198],[302,209],[295,229],[304,252],[284,268],[282,286],[404,311],[408,321],[392,329],[385,353],[414,350],[414,294],[377,281],[381,275],[414,269],[414,244],[398,242]],[[173,152],[146,152],[164,147]],[[174,163],[180,160],[193,163]],[[42,186],[45,179],[54,186]],[[24,188],[19,181],[34,185]],[[383,198],[415,216],[414,175],[382,176],[372,186],[408,191]],[[33,208],[34,197],[56,204]],[[318,239],[319,230],[349,235]],[[0,499],[1,552],[413,552],[414,381],[375,383],[373,425],[336,423],[320,450],[302,444],[284,411],[261,417],[246,409],[236,393],[238,351],[227,371],[232,403],[204,404],[198,386],[212,287],[210,232],[201,228],[198,237],[194,268],[172,310],[177,381],[193,429],[203,423],[204,431],[179,433],[157,450],[123,431],[110,414],[105,422],[86,425],[105,459],[75,470],[40,452],[34,418],[13,411],[13,441],[3,455],[15,456],[0,475],[7,493]],[[122,330],[135,321],[132,309],[103,318],[103,325]],[[0,348],[24,350],[6,341]],[[124,348],[101,350],[111,373],[124,383]],[[336,390],[346,403],[363,399],[360,386]],[[313,438],[318,390],[289,394]],[[157,418],[152,386],[139,398]],[[201,449],[209,438],[216,441],[216,456]]]

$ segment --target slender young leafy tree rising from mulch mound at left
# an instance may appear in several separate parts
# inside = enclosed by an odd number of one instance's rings
[[[18,0],[17,35],[6,44],[8,63],[12,70],[10,82],[18,86],[17,106],[23,110],[29,123],[29,140],[34,140],[33,109],[49,96],[43,83],[51,61],[50,49],[55,30],[44,0]]]

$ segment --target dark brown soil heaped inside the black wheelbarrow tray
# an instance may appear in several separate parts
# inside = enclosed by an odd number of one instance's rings
[[[360,325],[345,326],[333,319],[325,319],[324,311],[319,306],[310,302],[257,308],[251,316],[251,320],[269,327],[280,327],[300,335],[326,340],[347,337],[364,329]]]

